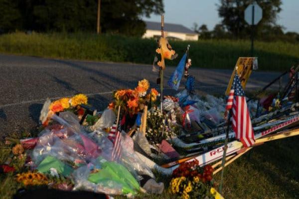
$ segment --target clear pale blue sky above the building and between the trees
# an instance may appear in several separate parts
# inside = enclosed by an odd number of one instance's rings
[[[285,27],[284,31],[299,33],[299,0],[282,0],[282,11],[277,24]],[[188,28],[196,22],[199,26],[206,24],[209,30],[221,21],[217,6],[219,0],[164,0],[164,22],[182,24]],[[160,22],[159,15],[150,15],[144,20]]]

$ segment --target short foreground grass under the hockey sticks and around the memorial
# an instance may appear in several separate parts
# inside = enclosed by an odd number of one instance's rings
[[[226,199],[299,198],[299,137],[267,142],[257,146],[225,168],[223,196]],[[3,161],[4,151],[0,150]],[[214,176],[220,182],[220,172]],[[159,180],[164,181],[162,176]],[[0,198],[11,199],[21,188],[12,175],[0,174]],[[167,185],[166,185],[167,186]],[[137,199],[173,199],[162,195],[139,195]],[[116,197],[124,199],[124,197]]]

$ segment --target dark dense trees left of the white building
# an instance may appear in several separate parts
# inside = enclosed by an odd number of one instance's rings
[[[94,32],[98,0],[0,0],[0,31]],[[164,12],[162,0],[101,0],[105,33],[141,36],[142,16]]]

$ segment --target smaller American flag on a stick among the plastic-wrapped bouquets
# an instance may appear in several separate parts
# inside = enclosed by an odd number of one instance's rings
[[[108,134],[108,139],[113,143],[112,161],[117,161],[121,157],[121,132],[116,129],[116,124],[113,124]]]

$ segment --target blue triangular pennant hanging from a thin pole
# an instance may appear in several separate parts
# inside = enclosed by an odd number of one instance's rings
[[[167,85],[171,89],[174,89],[176,91],[178,90],[179,83],[183,76],[184,67],[185,67],[185,63],[186,63],[186,57],[187,57],[187,54],[185,53],[184,56],[182,57],[182,59],[179,61],[175,71],[172,73],[172,75],[170,76],[170,79],[167,82]]]

